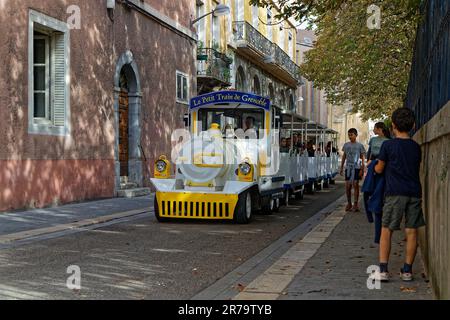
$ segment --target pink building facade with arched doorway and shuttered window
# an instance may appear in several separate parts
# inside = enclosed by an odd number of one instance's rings
[[[193,15],[191,0],[0,1],[0,211],[148,186],[196,92]]]

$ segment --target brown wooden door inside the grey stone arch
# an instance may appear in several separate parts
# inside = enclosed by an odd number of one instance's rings
[[[128,129],[128,93],[121,91],[119,96],[119,161],[121,177],[128,177]]]

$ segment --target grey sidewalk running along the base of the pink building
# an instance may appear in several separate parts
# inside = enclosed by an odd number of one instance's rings
[[[8,235],[52,228],[70,228],[71,224],[82,227],[93,222],[106,222],[119,217],[132,216],[153,209],[153,197],[113,198],[63,205],[56,208],[33,209],[0,213],[0,239]],[[55,232],[55,231],[53,231]],[[38,232],[39,233],[39,232]],[[14,239],[16,240],[16,239]]]

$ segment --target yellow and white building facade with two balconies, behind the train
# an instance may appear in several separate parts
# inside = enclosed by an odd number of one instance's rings
[[[251,92],[269,97],[282,109],[294,110],[297,86],[301,82],[295,64],[295,24],[275,21],[276,6],[259,8],[250,5],[248,0],[198,0],[196,3],[197,17],[219,4],[230,8],[227,16],[209,15],[195,24],[198,57],[204,58],[198,61],[198,93],[224,88]]]

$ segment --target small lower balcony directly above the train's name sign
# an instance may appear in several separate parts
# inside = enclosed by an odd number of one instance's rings
[[[225,54],[213,48],[197,50],[197,84],[198,93],[211,92],[216,87],[229,87],[230,65],[233,61]]]

